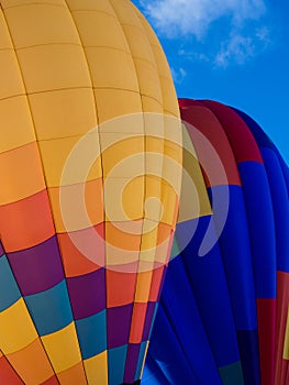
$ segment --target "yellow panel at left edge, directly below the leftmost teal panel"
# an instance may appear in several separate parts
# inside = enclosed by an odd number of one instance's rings
[[[37,339],[23,298],[0,312],[0,346],[4,354],[21,350]]]

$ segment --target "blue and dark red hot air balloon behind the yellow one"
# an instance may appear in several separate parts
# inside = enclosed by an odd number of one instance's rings
[[[179,105],[196,158],[185,144],[192,183],[182,185],[143,383],[288,384],[288,166],[244,112]],[[207,206],[184,217],[204,188]]]

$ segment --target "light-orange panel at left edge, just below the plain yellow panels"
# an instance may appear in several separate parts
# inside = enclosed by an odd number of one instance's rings
[[[37,144],[34,142],[0,153],[0,205],[18,201],[45,189]]]

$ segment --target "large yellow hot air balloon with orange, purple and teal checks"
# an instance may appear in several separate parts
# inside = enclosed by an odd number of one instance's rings
[[[181,176],[165,55],[129,0],[0,6],[0,383],[137,382]]]

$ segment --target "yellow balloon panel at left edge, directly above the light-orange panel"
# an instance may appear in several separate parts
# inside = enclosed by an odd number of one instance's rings
[[[0,100],[0,153],[36,140],[25,96]]]

